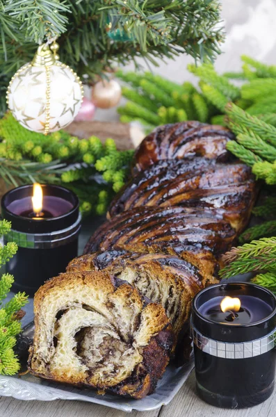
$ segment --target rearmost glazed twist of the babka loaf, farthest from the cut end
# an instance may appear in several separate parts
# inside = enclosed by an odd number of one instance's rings
[[[154,129],[136,151],[133,174],[145,170],[163,159],[181,159],[184,156],[204,156],[227,161],[232,158],[226,149],[234,134],[223,126],[200,122],[166,124]]]

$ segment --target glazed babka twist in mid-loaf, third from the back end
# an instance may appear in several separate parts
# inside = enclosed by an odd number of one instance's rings
[[[88,241],[84,253],[122,249],[172,254],[213,275],[216,258],[236,236],[220,215],[200,208],[136,207],[105,222]],[[202,269],[203,268],[203,269]]]

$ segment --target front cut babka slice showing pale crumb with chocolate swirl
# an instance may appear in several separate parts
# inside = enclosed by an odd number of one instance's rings
[[[143,398],[174,349],[161,304],[107,272],[65,273],[35,294],[33,375]]]

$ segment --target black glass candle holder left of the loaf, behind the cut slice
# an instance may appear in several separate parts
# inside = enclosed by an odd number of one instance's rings
[[[44,281],[64,272],[77,256],[81,229],[79,199],[67,188],[42,184],[42,217],[35,218],[33,184],[8,191],[1,200],[2,217],[12,224],[4,236],[18,245],[7,271],[15,277],[14,291],[33,295]]]

